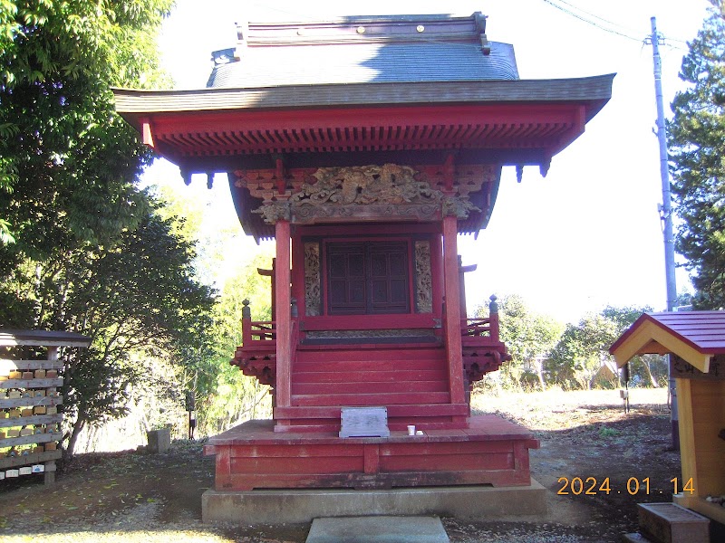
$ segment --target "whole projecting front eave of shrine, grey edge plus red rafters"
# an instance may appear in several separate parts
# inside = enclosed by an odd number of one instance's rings
[[[609,100],[613,77],[114,93],[144,141],[191,171],[209,157],[249,167],[246,157],[274,153],[450,149],[546,169]]]

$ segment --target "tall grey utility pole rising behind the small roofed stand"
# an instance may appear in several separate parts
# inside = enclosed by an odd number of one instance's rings
[[[660,176],[662,177],[662,235],[664,236],[664,275],[667,281],[667,310],[674,310],[677,303],[677,283],[674,275],[674,233],[672,228],[672,195],[670,194],[670,170],[667,165],[667,129],[664,126],[664,106],[662,105],[662,60],[660,59],[660,36],[657,33],[657,19],[652,17],[652,60],[654,61],[654,94],[657,101],[657,139],[660,142]],[[677,414],[677,387],[670,376],[670,357],[667,356],[668,386],[670,388],[672,423],[672,448],[680,450],[680,430]]]

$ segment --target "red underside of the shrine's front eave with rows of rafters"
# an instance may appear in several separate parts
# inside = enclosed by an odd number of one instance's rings
[[[569,104],[156,113],[144,142],[177,164],[196,157],[449,149],[540,149],[546,158],[584,131]]]

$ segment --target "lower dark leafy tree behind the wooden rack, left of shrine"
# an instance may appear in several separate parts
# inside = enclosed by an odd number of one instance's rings
[[[111,248],[59,251],[0,285],[0,305],[14,310],[5,323],[92,338],[64,359],[69,455],[85,426],[126,414],[134,387],[155,377],[154,357],[189,364],[187,352],[208,343],[211,291],[194,280],[192,247],[171,228],[152,211]]]

